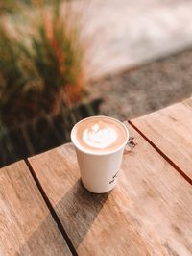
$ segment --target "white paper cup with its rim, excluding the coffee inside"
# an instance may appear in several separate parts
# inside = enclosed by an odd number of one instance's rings
[[[96,116],[88,118],[93,117]],[[105,117],[111,118],[108,116]],[[85,119],[81,120],[80,122],[84,121]],[[74,133],[76,126],[80,122],[78,122],[71,131],[71,141],[74,143],[76,148],[76,154],[81,172],[82,182],[84,184],[84,187],[90,192],[109,192],[115,187],[117,183],[124,148],[129,140],[129,132],[122,122],[114,118],[111,119],[118,122],[125,129],[127,138],[118,148],[110,152],[91,152],[90,150],[86,151],[80,148],[78,143],[76,142]]]

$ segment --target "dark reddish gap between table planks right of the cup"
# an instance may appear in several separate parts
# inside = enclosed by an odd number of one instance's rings
[[[158,152],[158,154],[160,154],[171,166],[173,166],[179,173],[180,175],[190,184],[192,185],[192,179],[179,167],[177,166],[168,156],[166,156],[157,146],[156,144],[151,141],[149,138],[147,138],[146,135],[144,135],[133,123],[132,121],[128,120],[128,123],[130,125],[132,125],[132,128],[134,130],[136,130],[142,137],[143,139],[145,139],[145,141],[147,141],[148,143],[150,143]]]

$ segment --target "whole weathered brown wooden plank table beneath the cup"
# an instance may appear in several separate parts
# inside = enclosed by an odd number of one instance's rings
[[[0,170],[0,255],[192,255],[192,98],[126,122],[117,187],[87,192],[74,147]]]

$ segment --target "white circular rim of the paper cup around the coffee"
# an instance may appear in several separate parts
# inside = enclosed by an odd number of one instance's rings
[[[107,118],[110,118],[110,119],[112,119],[112,120],[114,120],[114,121],[116,121],[117,123],[119,123],[121,126],[123,126],[124,127],[124,130],[125,130],[125,132],[126,132],[126,135],[127,135],[127,138],[126,138],[126,140],[124,141],[124,143],[122,144],[122,145],[120,145],[119,147],[117,147],[117,148],[115,148],[114,150],[110,150],[110,151],[108,151],[108,152],[90,152],[90,150],[86,150],[86,149],[84,149],[84,148],[81,148],[79,145],[77,145],[77,143],[75,142],[75,140],[74,140],[74,130],[75,130],[75,128],[77,127],[77,125],[79,125],[81,122],[83,122],[84,120],[87,120],[87,119],[91,119],[91,118],[99,118],[99,117],[107,117]],[[75,147],[78,149],[78,150],[80,150],[81,152],[83,152],[83,153],[85,153],[85,154],[87,154],[87,155],[92,155],[92,156],[105,156],[105,155],[110,155],[110,154],[113,154],[113,153],[116,153],[117,151],[119,151],[120,149],[122,149],[126,144],[127,144],[127,142],[129,141],[129,138],[130,138],[130,133],[129,133],[129,130],[128,130],[128,128],[126,127],[126,125],[123,123],[123,122],[121,122],[121,121],[119,121],[118,119],[116,119],[116,118],[113,118],[113,117],[110,117],[110,116],[107,116],[107,115],[93,115],[93,116],[89,116],[89,117],[86,117],[86,118],[84,118],[84,119],[82,119],[82,120],[80,120],[79,122],[77,122],[74,126],[73,126],[73,128],[72,128],[72,130],[71,130],[71,135],[70,135],[70,137],[71,137],[71,141],[73,142],[73,144],[75,145]]]

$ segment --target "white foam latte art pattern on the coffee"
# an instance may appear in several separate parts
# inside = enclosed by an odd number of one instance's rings
[[[106,148],[117,139],[116,131],[111,127],[101,128],[96,123],[91,129],[85,129],[83,133],[84,143],[94,148]]]

